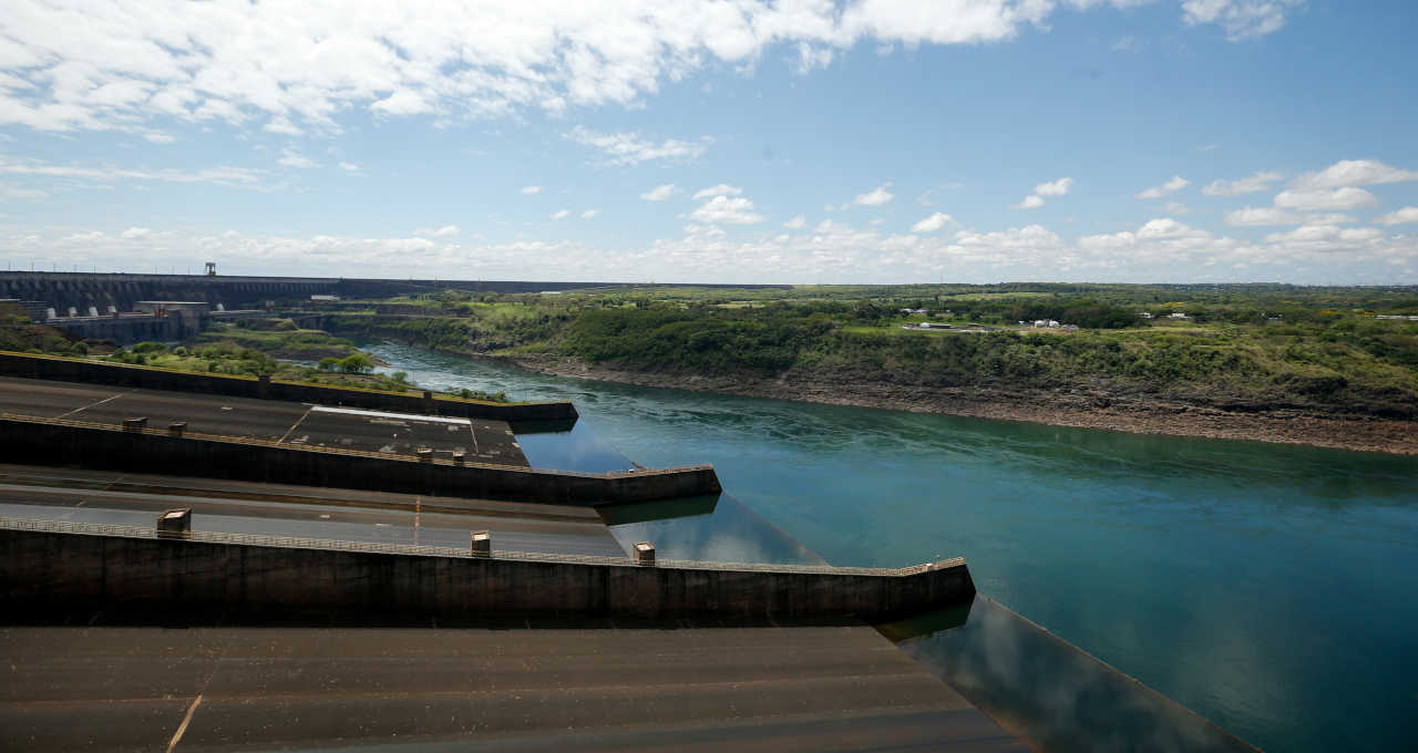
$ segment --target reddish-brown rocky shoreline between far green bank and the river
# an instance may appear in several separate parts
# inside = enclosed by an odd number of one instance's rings
[[[467,355],[467,353],[465,353]],[[855,406],[974,418],[1027,421],[1133,434],[1302,444],[1336,450],[1418,455],[1418,423],[1334,415],[1302,408],[1225,410],[1147,396],[1103,393],[1012,393],[991,389],[842,383],[814,379],[740,379],[617,370],[574,359],[474,356],[543,374]]]

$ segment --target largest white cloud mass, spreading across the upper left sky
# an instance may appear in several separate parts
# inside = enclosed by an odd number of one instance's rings
[[[1297,0],[1188,0],[1232,38],[1279,28]],[[1100,3],[1075,0],[1072,7]],[[1113,0],[1110,6],[1127,6]],[[149,119],[337,130],[336,116],[442,119],[635,105],[773,48],[811,71],[858,43],[978,44],[1044,28],[1059,3],[82,3],[11,0],[0,18],[0,123],[44,130]],[[62,30],[62,33],[55,33]]]

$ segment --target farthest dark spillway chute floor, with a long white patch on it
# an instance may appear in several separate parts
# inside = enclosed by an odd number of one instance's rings
[[[427,447],[445,459],[464,452],[468,462],[529,465],[505,421],[326,408],[336,407],[0,377],[0,411],[4,413],[98,424],[146,417],[150,428],[186,421],[187,431],[200,434],[400,455],[413,455]]]

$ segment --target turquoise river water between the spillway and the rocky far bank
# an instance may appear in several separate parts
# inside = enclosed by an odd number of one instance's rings
[[[729,492],[712,515],[615,526],[662,556],[902,566],[961,554],[981,593],[1255,744],[1395,750],[1418,739],[1418,459],[733,398],[372,350],[437,389],[573,400],[587,468],[712,462]],[[535,435],[522,442],[539,462]]]

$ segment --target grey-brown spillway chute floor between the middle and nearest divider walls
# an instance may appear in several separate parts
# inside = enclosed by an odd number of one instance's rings
[[[491,530],[499,550],[625,556],[587,508],[0,465],[4,518],[152,528],[172,508],[194,530],[458,547]]]

